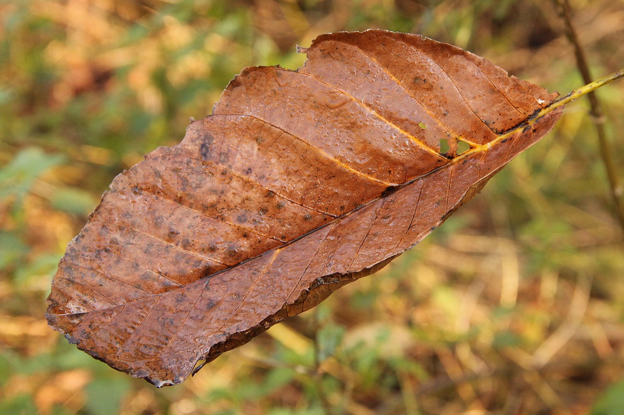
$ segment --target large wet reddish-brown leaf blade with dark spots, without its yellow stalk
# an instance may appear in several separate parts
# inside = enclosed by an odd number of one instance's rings
[[[52,327],[178,384],[414,246],[561,112],[535,117],[557,94],[421,36],[301,50],[297,72],[243,70],[182,143],[115,178],[59,264]]]

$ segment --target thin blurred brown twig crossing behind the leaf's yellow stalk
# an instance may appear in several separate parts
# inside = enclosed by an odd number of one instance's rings
[[[571,9],[568,0],[554,0],[557,4],[559,16],[565,23],[565,34],[568,37],[570,43],[574,47],[574,54],[577,58],[578,71],[583,77],[585,83],[592,82],[592,74],[590,73],[589,66],[587,65],[587,59],[585,59],[585,52],[578,41],[577,31],[572,25]],[[600,155],[602,161],[605,164],[607,170],[607,176],[611,188],[611,196],[615,203],[615,211],[617,212],[618,219],[620,219],[620,226],[624,231],[624,189],[622,183],[618,178],[618,174],[615,170],[615,162],[613,161],[613,150],[609,141],[607,140],[607,132],[605,131],[605,116],[602,112],[600,100],[595,92],[587,94],[587,98],[590,102],[590,112],[592,113],[593,122],[596,126],[596,133],[598,135],[598,143],[600,144]]]

